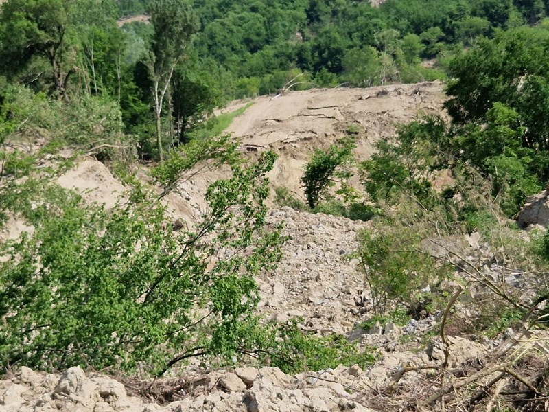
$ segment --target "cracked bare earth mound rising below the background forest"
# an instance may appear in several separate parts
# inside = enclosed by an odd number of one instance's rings
[[[395,135],[398,124],[419,115],[441,115],[444,100],[441,82],[295,91],[251,100],[253,105],[236,117],[226,132],[241,141],[246,152],[275,150],[279,159],[269,176],[272,184],[301,194],[303,165],[312,152],[349,134],[349,126],[353,133],[358,130],[355,157],[365,160],[379,139]],[[245,104],[234,102],[224,111]]]

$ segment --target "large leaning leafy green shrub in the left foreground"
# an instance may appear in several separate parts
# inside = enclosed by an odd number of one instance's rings
[[[34,233],[0,242],[0,364],[162,374],[193,356],[244,356],[254,276],[281,257],[280,227],[265,228],[274,159],[231,164],[232,176],[207,190],[204,220],[180,231],[165,228],[143,187],[105,210],[45,184],[51,196],[36,198]],[[215,259],[220,250],[235,253]]]

